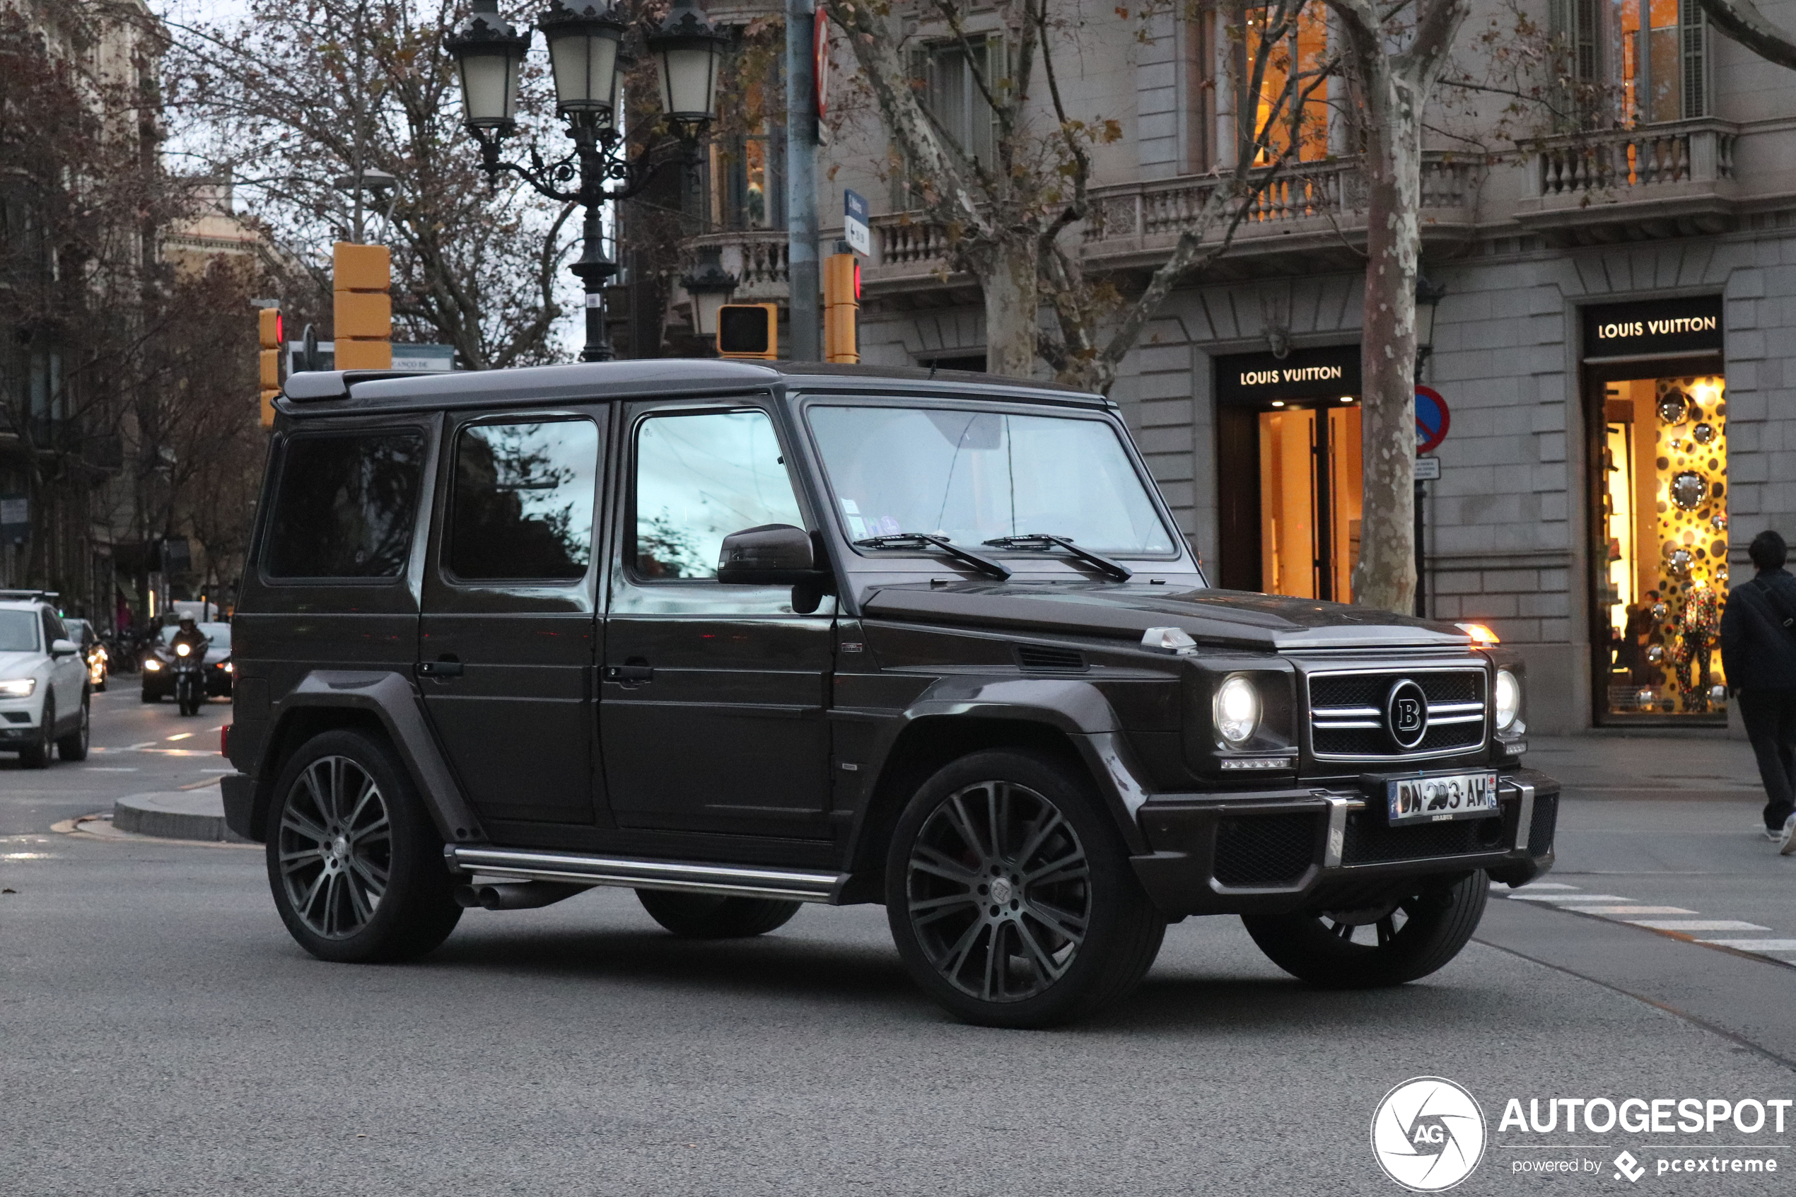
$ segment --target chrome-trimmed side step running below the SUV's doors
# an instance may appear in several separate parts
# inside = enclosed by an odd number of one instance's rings
[[[682,890],[724,897],[783,897],[796,903],[841,901],[846,872],[765,869],[760,865],[700,865],[679,860],[634,856],[582,856],[578,852],[528,852],[506,847],[444,847],[454,872],[528,881],[573,881],[620,885],[632,890]]]

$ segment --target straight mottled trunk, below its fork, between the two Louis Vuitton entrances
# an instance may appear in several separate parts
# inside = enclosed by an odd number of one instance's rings
[[[1415,610],[1415,273],[1422,106],[1394,70],[1365,79],[1367,264],[1360,364],[1365,499],[1352,598]]]

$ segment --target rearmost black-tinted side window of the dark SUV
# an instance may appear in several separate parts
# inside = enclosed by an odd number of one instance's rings
[[[422,479],[420,432],[295,436],[262,567],[269,578],[397,578],[411,555]]]

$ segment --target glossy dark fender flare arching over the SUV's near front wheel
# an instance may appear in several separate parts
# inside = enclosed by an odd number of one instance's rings
[[[871,714],[871,712],[867,712]],[[882,712],[867,761],[869,786],[855,811],[848,836],[848,861],[860,861],[867,849],[873,797],[887,779],[900,738],[921,720],[1004,720],[1061,732],[1079,754],[1130,852],[1146,852],[1137,813],[1148,800],[1142,770],[1133,761],[1122,723],[1110,700],[1090,682],[1072,678],[948,677],[918,695],[903,711]],[[880,858],[884,860],[884,858]],[[866,861],[862,861],[866,863]]]

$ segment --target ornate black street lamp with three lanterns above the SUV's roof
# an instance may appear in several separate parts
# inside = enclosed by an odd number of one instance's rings
[[[605,280],[618,273],[618,264],[605,255],[598,214],[605,201],[638,194],[672,158],[650,144],[630,162],[623,145],[623,74],[634,59],[623,52],[632,29],[616,9],[587,0],[550,0],[537,29],[550,48],[555,111],[573,140],[573,151],[550,163],[533,149],[528,165],[499,156],[503,138],[517,129],[517,77],[530,36],[499,16],[497,0],[474,0],[467,25],[444,45],[462,75],[462,124],[480,142],[480,169],[487,178],[497,179],[501,170],[510,170],[541,196],[585,208],[580,260],[568,267],[585,285],[580,359],[611,361]],[[661,66],[661,108],[681,144],[679,160],[690,167],[697,162],[697,138],[717,111],[717,75],[729,34],[715,29],[690,0],[681,0],[666,22],[641,32]],[[612,179],[621,187],[607,188]]]

